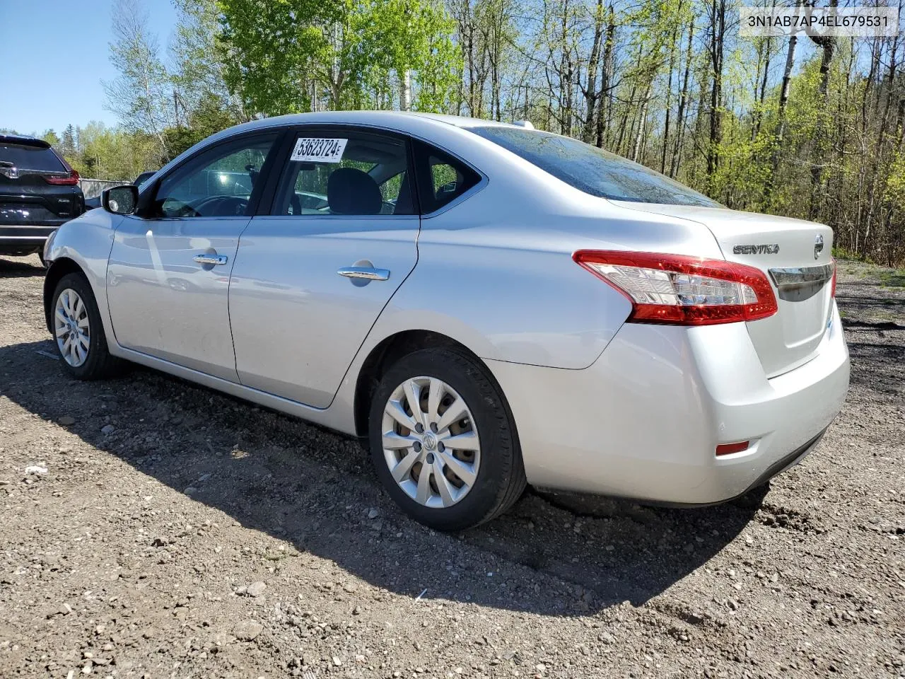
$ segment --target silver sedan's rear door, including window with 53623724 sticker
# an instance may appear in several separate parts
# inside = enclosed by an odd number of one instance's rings
[[[288,145],[270,214],[252,218],[233,268],[236,368],[243,385],[326,407],[417,260],[410,148],[346,126]]]

